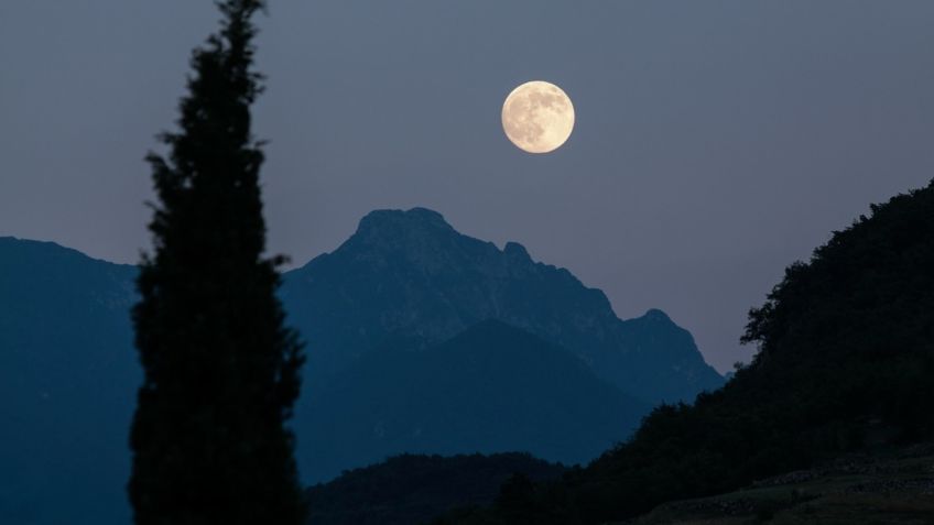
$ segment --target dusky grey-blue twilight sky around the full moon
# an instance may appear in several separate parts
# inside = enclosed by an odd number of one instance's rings
[[[270,248],[297,264],[374,208],[425,206],[650,307],[728,370],[785,265],[934,177],[934,2],[273,0],[256,107]],[[0,236],[135,262],[142,157],[207,0],[0,2]],[[552,154],[503,98],[574,100]]]

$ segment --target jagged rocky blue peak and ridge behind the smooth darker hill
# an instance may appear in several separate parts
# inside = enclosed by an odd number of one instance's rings
[[[458,233],[432,210],[378,210],[333,253],[286,275],[291,322],[308,341],[312,378],[387,339],[442,341],[485,319],[569,349],[601,378],[649,402],[693,400],[723,383],[691,335],[659,310],[620,320],[602,292],[567,270]]]

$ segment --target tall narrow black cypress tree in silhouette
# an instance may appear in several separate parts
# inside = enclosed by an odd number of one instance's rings
[[[218,4],[222,24],[195,50],[180,130],[150,154],[161,206],[133,310],[145,372],[131,431],[139,525],[298,524],[304,507],[285,428],[303,357],[264,259],[261,144],[250,105],[251,18],[261,0]]]

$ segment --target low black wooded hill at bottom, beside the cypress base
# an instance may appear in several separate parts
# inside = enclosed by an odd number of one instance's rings
[[[513,474],[545,481],[565,471],[528,453],[398,456],[308,489],[308,524],[415,525],[452,506],[492,503]]]

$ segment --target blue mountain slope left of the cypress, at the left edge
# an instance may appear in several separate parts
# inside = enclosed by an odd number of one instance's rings
[[[135,274],[0,238],[0,523],[129,523]]]

